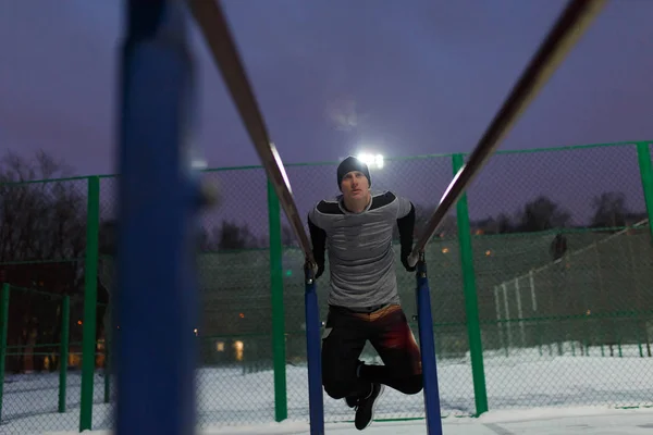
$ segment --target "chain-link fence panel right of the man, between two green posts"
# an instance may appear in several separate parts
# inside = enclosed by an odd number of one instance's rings
[[[497,154],[470,187],[490,409],[652,403],[642,175],[636,146],[580,147]]]

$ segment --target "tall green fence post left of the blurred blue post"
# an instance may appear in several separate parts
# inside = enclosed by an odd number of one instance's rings
[[[82,337],[82,403],[79,432],[93,425],[93,386],[96,360],[96,310],[98,302],[98,233],[100,226],[100,178],[88,177],[84,259],[84,328]]]

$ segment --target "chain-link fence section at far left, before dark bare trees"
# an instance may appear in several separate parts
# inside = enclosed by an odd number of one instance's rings
[[[103,339],[87,322],[95,324],[107,300],[85,297],[97,290],[87,268],[97,261],[87,232],[97,191],[86,177],[20,182],[29,166],[17,158],[4,163],[0,283],[8,311],[0,319],[0,424],[8,434],[76,431],[85,420],[90,424],[94,401],[103,396],[94,373],[103,365]],[[48,167],[41,159],[32,170]]]

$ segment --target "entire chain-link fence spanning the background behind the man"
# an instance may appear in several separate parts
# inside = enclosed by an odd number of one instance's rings
[[[475,390],[486,391],[490,409],[653,405],[646,389],[653,380],[653,179],[644,149],[648,144],[497,153],[470,186],[468,208],[446,217],[426,252],[444,415],[475,414],[483,407]],[[372,189],[409,198],[417,209],[419,234],[452,179],[454,160],[434,156],[385,161],[372,171]],[[335,167],[336,163],[286,167],[305,225],[310,208],[338,192]],[[305,420],[303,256],[262,169],[211,170],[205,177],[219,186],[222,202],[204,212],[198,232],[198,423],[206,427]],[[89,415],[94,430],[113,427],[111,336],[120,326],[111,325],[110,295],[115,284],[118,178],[96,177],[99,240],[91,246],[95,257],[89,257],[93,178],[0,186],[14,195],[2,196],[1,243],[10,245],[0,247],[5,275],[1,281],[12,285],[10,303],[19,288],[30,289],[25,295],[33,299],[41,295],[38,306],[28,309],[15,299],[11,310],[20,320],[14,325],[10,319],[4,349],[1,422],[9,433],[77,430]],[[66,183],[74,188],[44,187]],[[11,194],[10,188],[16,190]],[[53,199],[48,202],[42,192],[50,191]],[[471,246],[463,235],[471,235]],[[97,263],[95,275],[86,266],[88,259]],[[37,273],[44,278],[35,278]],[[96,279],[97,288],[88,279]],[[417,313],[415,276],[397,265],[397,279],[411,319]],[[83,298],[88,291],[97,291],[98,299],[96,363],[91,394],[87,386],[83,396],[78,357],[84,353],[81,323],[88,315]],[[322,320],[328,293],[325,274],[318,282]],[[59,412],[62,334],[57,313],[65,295],[71,297],[70,344],[65,412]],[[469,318],[470,295],[478,299],[478,321]],[[40,306],[48,309],[34,308]],[[34,324],[42,334],[59,330],[27,347]],[[417,322],[411,326],[417,337]],[[469,351],[478,331],[482,356]],[[151,363],[170,351],[174,349],[161,349]],[[39,362],[16,372],[21,352],[42,356],[30,357]],[[484,381],[472,375],[471,361],[481,357]],[[362,358],[380,362],[371,347]],[[342,400],[326,395],[324,412],[326,421],[353,419]],[[390,390],[377,414],[422,418],[422,395]]]

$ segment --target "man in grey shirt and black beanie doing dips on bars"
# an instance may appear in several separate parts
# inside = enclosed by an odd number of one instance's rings
[[[329,248],[331,289],[329,315],[322,335],[322,384],[334,399],[355,408],[356,427],[369,426],[384,385],[404,394],[422,389],[421,358],[415,336],[399,304],[392,249],[398,226],[401,261],[412,250],[415,207],[386,191],[370,192],[368,166],[349,157],[337,167],[342,192],[320,201],[308,214],[316,277],[324,272]],[[369,340],[383,365],[359,360]]]

